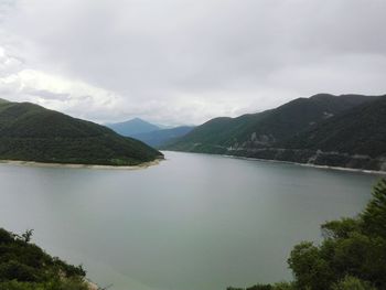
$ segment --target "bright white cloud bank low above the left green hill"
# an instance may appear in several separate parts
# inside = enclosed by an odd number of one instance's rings
[[[68,79],[35,69],[7,55],[0,47],[0,93],[9,100],[28,100],[77,117],[98,120],[114,116],[121,97],[82,80]],[[104,114],[100,114],[104,112]]]

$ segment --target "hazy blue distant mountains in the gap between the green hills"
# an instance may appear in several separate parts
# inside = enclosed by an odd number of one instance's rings
[[[165,128],[164,126],[154,125],[140,118],[124,122],[107,123],[106,126],[119,135],[138,139],[154,148],[170,143],[194,128],[193,126]]]

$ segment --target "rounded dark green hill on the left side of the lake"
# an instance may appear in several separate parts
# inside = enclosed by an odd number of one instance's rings
[[[0,159],[135,165],[161,158],[147,144],[31,103],[0,103]]]

